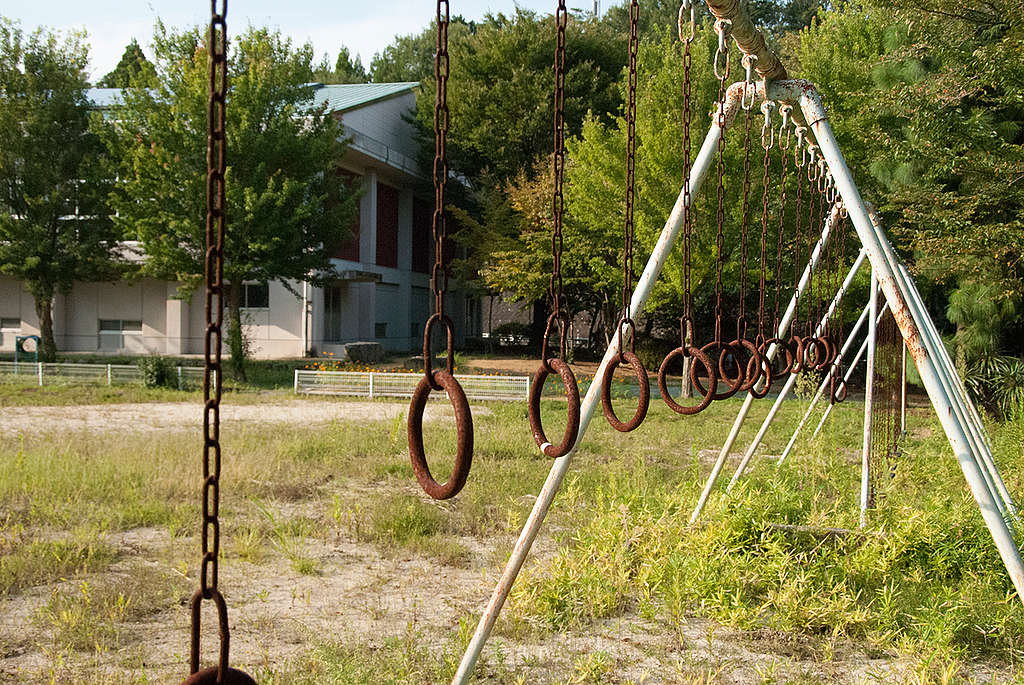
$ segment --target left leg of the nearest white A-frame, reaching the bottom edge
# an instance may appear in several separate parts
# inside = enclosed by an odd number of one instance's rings
[[[731,92],[736,92],[738,94],[738,91],[730,91],[730,95]],[[738,99],[736,101],[738,101]],[[735,105],[736,101],[733,101],[732,104]],[[683,217],[688,211],[690,200],[699,191],[700,185],[708,173],[708,169],[711,168],[712,163],[716,159],[718,139],[723,130],[720,123],[722,120],[723,117],[721,115],[713,117],[711,129],[708,131],[703,144],[700,146],[700,152],[697,154],[696,160],[694,160],[693,168],[690,173],[689,197],[687,197],[685,192],[680,191],[679,197],[676,199],[676,204],[672,208],[672,213],[669,215],[669,219],[665,223],[665,228],[662,229],[662,234],[657,240],[657,245],[654,246],[650,259],[647,260],[647,265],[637,282],[636,289],[633,292],[633,299],[630,301],[630,314],[632,316],[639,314],[644,303],[647,301],[651,288],[657,280],[658,274],[660,274],[662,268],[665,266],[665,262],[669,258],[669,253],[672,251],[672,247],[675,245],[679,231],[683,226]],[[594,375],[595,378],[601,377],[604,373],[604,369],[617,353],[618,339],[616,336],[612,336],[611,343],[608,345],[608,348],[604,353],[604,357],[601,359],[601,365],[598,367],[598,370]],[[577,437],[577,445],[579,445],[580,441],[583,440],[583,436],[590,424],[594,410],[600,403],[600,383],[591,383],[590,388],[587,390],[587,395],[584,397],[581,405],[580,432]],[[495,586],[495,590],[490,595],[490,600],[487,602],[487,606],[483,610],[483,615],[480,616],[480,622],[476,626],[476,631],[473,633],[473,637],[470,639],[469,645],[466,647],[466,651],[459,663],[459,669],[452,678],[452,685],[465,685],[465,683],[469,681],[469,678],[473,673],[473,668],[476,666],[476,661],[480,656],[480,651],[483,649],[483,645],[487,641],[487,637],[490,635],[490,630],[494,628],[495,622],[498,619],[498,614],[501,612],[502,606],[505,604],[505,599],[512,590],[512,584],[515,583],[515,579],[519,574],[519,570],[522,568],[522,564],[526,560],[526,556],[529,554],[529,549],[534,544],[534,540],[537,538],[537,534],[541,529],[544,518],[547,516],[548,509],[551,507],[555,494],[561,486],[562,479],[565,477],[565,473],[568,471],[569,465],[572,463],[572,456],[574,453],[575,445],[573,445],[572,449],[567,455],[554,461],[554,465],[551,467],[551,472],[548,474],[544,487],[541,489],[541,493],[537,498],[537,502],[534,503],[534,509],[530,511],[529,517],[526,519],[526,523],[523,526],[522,531],[519,533],[519,539],[516,541],[515,547],[512,548],[512,554],[510,555],[508,563],[505,566],[505,570],[502,572],[498,584]]]

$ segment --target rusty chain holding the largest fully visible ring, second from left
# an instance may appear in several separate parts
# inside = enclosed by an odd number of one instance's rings
[[[434,216],[432,223],[434,239],[434,267],[430,276],[430,291],[434,295],[434,312],[444,320],[444,294],[449,285],[449,269],[444,259],[444,245],[447,242],[447,222],[444,218],[444,188],[447,183],[447,80],[449,80],[449,3],[437,0],[437,42],[434,56],[434,78],[437,92],[434,97]],[[428,331],[424,332],[427,335]],[[429,341],[424,341],[427,347]],[[425,370],[429,369],[426,365]],[[433,379],[427,378],[433,387]]]

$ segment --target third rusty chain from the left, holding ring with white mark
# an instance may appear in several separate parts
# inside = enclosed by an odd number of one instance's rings
[[[553,227],[551,231],[551,280],[548,285],[548,292],[551,296],[551,316],[560,322],[558,358],[565,358],[565,322],[562,312],[562,216],[564,214],[565,199],[563,196],[563,185],[565,176],[565,28],[568,25],[568,9],[565,7],[565,0],[558,0],[558,8],[555,10],[555,26],[557,28],[557,38],[555,44],[555,102],[554,102],[554,192],[551,200],[551,213],[553,216]],[[548,341],[545,340],[542,349],[547,350]],[[541,363],[548,369],[548,355],[541,355]]]

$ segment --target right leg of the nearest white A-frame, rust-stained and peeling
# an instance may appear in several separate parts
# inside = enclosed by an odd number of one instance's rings
[[[846,166],[846,161],[843,159],[842,151],[840,151],[836,136],[828,125],[817,92],[813,88],[806,89],[800,98],[800,105],[814,132],[821,154],[828,165],[828,170],[835,178],[836,187],[850,212],[854,228],[856,228],[861,243],[867,248],[868,258],[877,272],[882,291],[889,301],[889,307],[896,317],[900,333],[906,340],[910,355],[918,365],[921,380],[935,406],[946,438],[949,440],[949,445],[964,472],[964,478],[978,504],[985,525],[992,534],[992,540],[995,542],[1004,564],[1006,564],[1018,597],[1024,598],[1024,561],[1021,560],[1020,550],[1017,549],[1013,533],[982,474],[983,467],[980,461],[984,459],[981,454],[984,449],[983,447],[979,448],[979,445],[972,440],[968,423],[962,418],[958,411],[962,401],[970,400],[963,396],[956,396],[961,394],[958,389],[954,389],[950,393],[941,378],[937,359],[947,361],[949,353],[944,347],[939,348],[937,344],[929,345],[934,347],[934,350],[926,347],[923,334],[924,337],[927,337],[928,333],[923,331],[920,322],[927,316],[915,315],[905,294],[911,292],[911,289],[913,291],[916,289],[912,287],[912,281],[904,281],[901,274],[897,273],[899,261],[896,259],[888,240],[879,233],[867,214],[867,208],[864,206],[860,192],[853,181],[853,176]],[[951,363],[951,361],[949,362]]]

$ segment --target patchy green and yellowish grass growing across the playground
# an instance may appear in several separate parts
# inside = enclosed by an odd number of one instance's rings
[[[57,403],[81,398],[71,388],[53,392]],[[783,409],[763,454],[782,448],[802,404]],[[859,444],[862,406],[854,402],[838,408],[817,439],[798,441],[783,467],[756,458],[738,489],[716,494],[701,524],[689,528],[708,468],[701,451],[717,454],[737,408],[738,401],[718,402],[681,419],[653,402],[632,434],[595,416],[545,528],[554,544],[527,564],[493,639],[499,642],[488,645],[488,682],[517,682],[534,667],[548,675],[523,682],[636,681],[620,675],[618,656],[600,649],[567,655],[554,674],[544,663],[531,666],[536,656],[510,653],[510,645],[588,634],[627,617],[654,622],[668,634],[698,616],[750,635],[794,636],[825,661],[854,644],[880,656],[902,655],[905,682],[957,682],[982,661],[1020,669],[1024,607],[933,417],[911,417],[913,434],[896,476],[871,512],[872,529],[884,534],[822,539],[771,525],[856,527],[859,456],[851,445]],[[403,417],[226,426],[225,557],[254,566],[281,558],[296,575],[315,576],[329,561],[310,551],[315,544],[347,540],[442,569],[502,565],[551,464],[537,455],[522,404],[487,409],[474,417],[469,483],[444,503],[415,487]],[[751,439],[767,410],[755,404],[737,445]],[[549,434],[560,434],[563,414],[563,402],[545,401]],[[1019,496],[1024,418],[990,428],[996,461]],[[425,443],[431,469],[443,479],[454,449],[451,423],[428,423]],[[47,653],[80,665],[85,653],[136,658],[126,651],[131,640],[124,627],[180,612],[193,582],[174,569],[195,574],[198,458],[190,432],[159,440],[87,432],[0,437],[0,595],[42,591],[34,626]],[[174,548],[159,571],[135,564],[112,542],[135,528],[160,531]],[[493,549],[494,557],[481,562],[478,547]],[[426,616],[372,642],[312,635],[299,655],[254,675],[264,683],[443,682],[474,626],[464,616],[458,627],[432,627]],[[140,678],[134,667],[124,668]],[[680,661],[670,682],[715,682],[738,668]],[[103,682],[90,669],[55,682]],[[765,683],[815,682],[813,674],[804,681],[768,663],[758,669]]]

